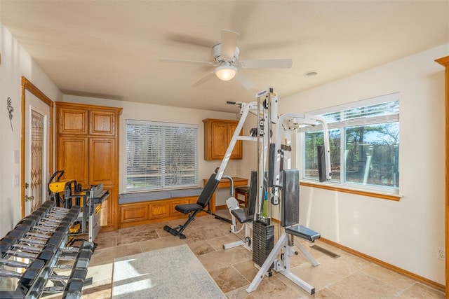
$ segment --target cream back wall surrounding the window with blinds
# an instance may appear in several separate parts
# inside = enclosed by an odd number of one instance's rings
[[[151,100],[151,99],[150,99]],[[221,160],[204,160],[204,125],[202,120],[205,118],[221,118],[236,120],[236,113],[225,113],[198,109],[185,109],[171,106],[160,106],[153,104],[142,104],[134,102],[122,102],[112,99],[98,99],[92,97],[79,97],[73,95],[64,95],[64,102],[92,104],[101,106],[121,107],[123,112],[120,116],[120,193],[125,192],[126,181],[126,119],[133,120],[152,120],[172,123],[187,123],[199,125],[198,144],[199,144],[199,186],[203,186],[203,180],[207,179],[215,168],[220,166]],[[236,175],[236,165],[239,160],[231,160],[227,165],[225,174],[229,176]],[[217,202],[217,204],[221,204]]]

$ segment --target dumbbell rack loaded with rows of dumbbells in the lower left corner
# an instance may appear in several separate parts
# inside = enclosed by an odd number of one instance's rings
[[[83,286],[92,283],[86,275],[93,242],[66,246],[79,213],[79,206],[55,207],[48,200],[0,239],[0,298],[81,298]]]

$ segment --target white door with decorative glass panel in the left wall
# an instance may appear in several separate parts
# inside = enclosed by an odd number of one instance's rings
[[[22,184],[25,188],[22,200],[25,215],[32,213],[48,198],[50,109],[47,102],[25,90],[25,182]]]

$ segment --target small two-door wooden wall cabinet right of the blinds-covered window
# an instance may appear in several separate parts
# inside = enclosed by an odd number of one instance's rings
[[[204,160],[222,160],[232,135],[239,124],[238,120],[219,120],[206,118],[204,123]],[[241,134],[241,132],[240,132]],[[242,141],[236,141],[231,159],[242,158]]]

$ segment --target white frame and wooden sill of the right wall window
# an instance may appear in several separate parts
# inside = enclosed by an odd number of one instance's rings
[[[328,107],[326,109],[320,109],[317,111],[312,111],[310,114],[313,115],[323,115],[326,113],[337,113],[342,111],[347,111],[350,109],[356,109],[363,106],[371,106],[375,104],[383,104],[387,102],[399,102],[399,93],[394,92],[389,95],[382,95],[379,97],[373,97],[370,99],[363,99],[361,101],[351,102],[348,104],[342,104],[338,106]],[[340,192],[344,193],[352,193],[352,194],[358,194],[358,195],[366,195],[370,197],[378,197],[382,199],[387,200],[400,200],[400,186],[397,188],[395,187],[389,187],[389,186],[376,186],[376,185],[363,185],[360,183],[351,183],[344,181],[345,178],[345,172],[346,172],[346,165],[344,161],[344,154],[342,154],[342,149],[344,149],[345,146],[345,134],[346,134],[346,128],[347,127],[354,127],[356,125],[357,127],[360,126],[366,126],[366,125],[375,125],[375,124],[386,124],[386,123],[398,123],[398,126],[400,127],[399,123],[399,117],[400,117],[400,110],[398,113],[393,115],[387,115],[387,116],[374,116],[370,118],[357,118],[356,120],[343,120],[339,122],[339,125],[332,125],[332,123],[328,123],[329,130],[333,129],[340,129],[340,181],[325,181],[325,182],[319,182],[318,179],[312,179],[309,177],[304,177],[305,175],[305,132],[322,132],[322,126],[317,125],[312,130],[307,130],[306,128],[302,127],[300,130],[297,131],[296,136],[296,145],[297,145],[297,151],[296,151],[296,161],[297,161],[297,167],[301,169],[300,171],[300,185],[302,186],[309,186],[309,187],[315,187],[315,188],[322,188],[327,190],[338,190]],[[400,130],[399,130],[400,134]],[[400,157],[400,155],[399,155]]]

